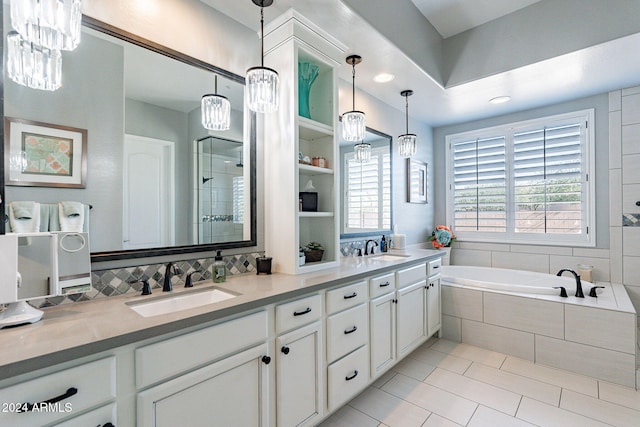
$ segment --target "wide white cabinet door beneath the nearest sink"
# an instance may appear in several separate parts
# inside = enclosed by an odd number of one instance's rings
[[[138,393],[138,425],[268,425],[266,354],[262,344]]]

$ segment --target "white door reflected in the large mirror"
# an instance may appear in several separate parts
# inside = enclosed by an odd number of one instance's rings
[[[125,135],[123,249],[175,244],[174,145]]]

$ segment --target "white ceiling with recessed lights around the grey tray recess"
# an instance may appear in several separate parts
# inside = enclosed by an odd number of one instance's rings
[[[250,29],[259,31],[259,10],[251,0],[200,1]],[[547,8],[556,5],[566,7],[566,4],[576,1],[393,0],[393,3],[387,3],[388,0],[275,0],[272,6],[265,8],[264,14],[268,25],[275,17],[289,8],[294,8],[348,46],[345,56],[357,53],[363,57],[363,62],[357,67],[358,89],[403,113],[404,98],[400,92],[413,89],[414,95],[410,101],[411,117],[436,127],[640,85],[640,32],[625,37],[612,37],[607,41],[592,43],[586,48],[578,47],[556,56],[542,55],[544,59],[523,63],[517,67],[507,67],[499,72],[476,76],[447,86],[446,76],[433,75],[433,71],[428,70],[428,67],[418,65],[425,62],[420,46],[426,42],[415,38],[414,34],[423,34],[423,30],[428,29],[393,25],[393,18],[389,19],[388,16],[382,16],[383,20],[389,20],[388,23],[383,21],[376,24],[372,18],[376,9],[384,12],[385,7],[402,6],[405,10],[414,8],[417,11],[414,3],[429,19],[428,21],[421,18],[421,25],[435,28],[441,33],[437,37],[443,46],[447,47],[448,41],[464,37],[467,33],[459,32],[470,27],[482,30],[517,14],[526,17],[523,14],[528,11],[536,12],[539,5]],[[627,4],[635,3],[640,4],[638,0]],[[615,14],[615,9],[611,6],[605,9],[604,13]],[[565,13],[566,11],[561,12],[562,19],[572,18]],[[606,18],[604,16],[602,22],[615,25],[613,18],[617,18],[616,16],[612,15],[609,20]],[[573,24],[579,26],[581,23]],[[443,37],[454,33],[458,35]],[[530,42],[533,43],[535,40]],[[535,48],[544,51],[548,47]],[[464,50],[464,46],[460,52],[469,53]],[[447,54],[443,49],[442,55]],[[514,56],[518,56],[518,53]],[[395,79],[384,84],[374,82],[373,77],[381,72],[391,73],[395,75]],[[351,68],[346,63],[340,68],[340,78],[344,80],[343,86],[350,86]],[[347,95],[350,95],[350,91],[345,91],[343,96]],[[489,104],[491,98],[502,95],[510,96],[511,101],[500,105]]]

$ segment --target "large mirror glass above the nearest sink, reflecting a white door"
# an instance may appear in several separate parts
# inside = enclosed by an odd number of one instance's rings
[[[90,205],[93,262],[256,245],[255,114],[244,109],[243,77],[88,17],[62,61],[53,92],[4,77],[5,131],[86,130],[84,188],[5,179],[7,211],[16,201]],[[200,100],[216,75],[232,108],[224,132],[201,124]]]

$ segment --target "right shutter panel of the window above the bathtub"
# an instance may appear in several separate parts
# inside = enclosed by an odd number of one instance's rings
[[[516,233],[582,231],[581,124],[514,133]]]

